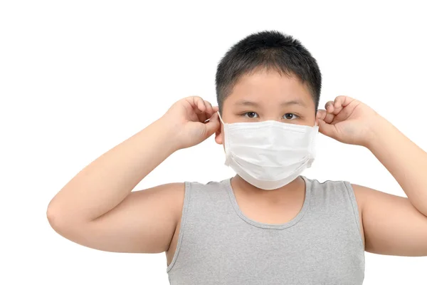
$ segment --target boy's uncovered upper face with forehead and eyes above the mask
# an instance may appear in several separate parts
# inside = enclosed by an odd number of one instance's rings
[[[315,125],[315,102],[308,88],[295,77],[275,71],[243,76],[223,102],[224,123],[276,120],[296,125]],[[223,125],[215,141],[223,144]]]

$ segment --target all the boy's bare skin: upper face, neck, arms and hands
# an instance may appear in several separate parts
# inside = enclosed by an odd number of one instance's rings
[[[197,145],[214,133],[222,145],[223,128],[217,110],[197,96],[174,103],[162,118],[91,162],[53,197],[47,210],[51,227],[93,249],[165,252],[170,264],[179,235],[184,184],[132,190],[177,150]],[[226,123],[278,120],[300,125],[315,125],[317,120],[324,135],[369,148],[408,198],[352,185],[365,250],[427,256],[427,182],[421,175],[421,170],[427,169],[427,153],[369,107],[339,96],[316,114],[308,89],[296,78],[258,72],[236,84],[223,104],[222,118]],[[390,136],[394,140],[385,139]],[[397,149],[405,149],[406,156],[393,151]],[[242,212],[258,222],[290,221],[305,197],[300,178],[270,191],[260,190],[238,176],[231,184]]]

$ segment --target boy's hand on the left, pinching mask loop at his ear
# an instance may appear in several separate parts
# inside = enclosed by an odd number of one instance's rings
[[[174,103],[162,121],[173,126],[177,147],[181,149],[198,145],[221,127],[217,111],[218,106],[212,107],[199,96],[191,96]]]

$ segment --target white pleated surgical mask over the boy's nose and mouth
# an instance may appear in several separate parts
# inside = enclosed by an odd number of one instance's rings
[[[275,120],[228,124],[219,118],[224,125],[225,165],[255,187],[283,187],[315,159],[317,124],[310,127]]]

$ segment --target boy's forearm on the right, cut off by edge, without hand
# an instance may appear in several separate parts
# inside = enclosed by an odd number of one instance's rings
[[[381,118],[367,147],[393,175],[419,212],[427,216],[427,152]]]

